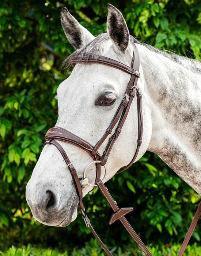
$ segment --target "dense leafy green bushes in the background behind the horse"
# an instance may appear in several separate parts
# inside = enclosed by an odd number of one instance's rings
[[[45,132],[57,120],[54,94],[60,82],[70,74],[70,71],[65,75],[59,71],[62,61],[73,52],[60,25],[61,8],[68,7],[71,14],[96,35],[106,31],[107,2],[0,1],[1,250],[12,244],[30,242],[59,248],[67,243],[73,248],[78,243],[83,245],[91,237],[80,216],[66,229],[36,222],[26,203],[25,188],[42,150]],[[111,0],[110,3],[122,11],[132,35],[155,47],[190,57],[194,54],[200,59],[200,1]],[[107,186],[120,207],[134,207],[129,220],[145,243],[153,242],[153,245],[182,241],[199,200],[199,196],[159,157],[148,152]],[[113,224],[111,235],[107,226],[111,210],[97,190],[87,196],[85,202],[94,226],[98,233],[105,231],[104,239],[108,244],[114,246],[116,240],[122,239],[125,244],[130,241],[134,246],[119,223]],[[199,234],[197,227],[191,242],[200,241]],[[172,252],[177,251],[177,245],[172,245],[174,247]],[[93,248],[96,250],[98,245]],[[158,253],[155,255],[166,255],[165,247],[160,253],[158,247],[154,248],[152,250]],[[196,246],[192,248],[194,255],[198,255]],[[31,248],[18,250],[11,248],[6,255],[52,253]],[[83,250],[86,251],[80,252],[82,255],[89,255],[87,250],[91,248]],[[93,253],[97,255],[99,252]],[[136,255],[141,255],[138,253]]]

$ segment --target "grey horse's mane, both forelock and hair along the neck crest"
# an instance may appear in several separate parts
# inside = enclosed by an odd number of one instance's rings
[[[88,43],[84,47],[76,50],[70,56],[68,56],[67,59],[65,59],[64,62],[62,63],[61,68],[64,70],[68,69],[70,67],[70,64],[69,64],[70,60],[73,58],[77,58],[77,57],[82,58],[82,56],[84,56],[85,58],[87,57],[88,59],[90,59],[92,57],[98,58],[104,52],[104,48],[105,48],[104,42],[109,41],[109,40],[110,40],[110,38],[107,33],[99,34],[90,43]],[[149,44],[146,44],[144,42],[137,40],[133,36],[130,36],[130,42],[131,42],[131,44],[144,45],[150,51],[158,53],[160,55],[163,55],[164,57],[171,59],[172,61],[185,67],[186,69],[193,71],[194,73],[201,73],[201,62],[197,59],[191,59],[189,57],[175,54],[171,51],[166,51],[166,50],[161,50],[161,49],[155,48],[152,45],[149,45]]]

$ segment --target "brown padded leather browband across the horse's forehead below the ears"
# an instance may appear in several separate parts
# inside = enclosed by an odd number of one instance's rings
[[[75,65],[77,63],[84,63],[84,64],[92,64],[92,63],[96,63],[96,64],[104,64],[110,67],[114,67],[117,68],[125,73],[128,73],[130,75],[136,75],[138,78],[140,77],[140,73],[139,71],[134,70],[134,68],[129,67],[121,62],[118,62],[117,60],[113,60],[110,59],[108,57],[105,56],[99,56],[98,58],[96,57],[92,57],[92,58],[88,58],[87,56],[80,56],[78,58],[72,58],[70,60],[71,66],[75,67]]]

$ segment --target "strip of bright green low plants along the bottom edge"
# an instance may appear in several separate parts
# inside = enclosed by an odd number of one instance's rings
[[[177,256],[181,245],[173,244],[173,245],[163,245],[163,246],[149,246],[150,252],[153,256]],[[126,251],[123,253],[121,248],[114,247],[111,249],[111,252],[115,256],[129,256],[129,255],[136,255],[136,256],[144,256],[144,253],[139,248],[127,248]],[[5,252],[0,251],[1,256],[104,256],[105,253],[103,252],[101,246],[98,244],[96,240],[90,240],[90,242],[86,243],[86,245],[82,248],[74,248],[73,251],[69,249],[65,249],[64,251],[58,249],[42,249],[42,248],[35,248],[30,245],[22,246],[21,248],[16,248],[12,246]],[[201,246],[197,244],[188,245],[186,248],[185,253],[183,256],[201,256]]]

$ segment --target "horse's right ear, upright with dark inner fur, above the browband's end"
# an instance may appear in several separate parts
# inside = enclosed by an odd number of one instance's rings
[[[115,47],[125,52],[129,44],[129,30],[122,13],[113,5],[108,4],[107,33]]]

